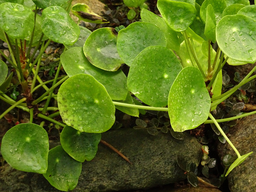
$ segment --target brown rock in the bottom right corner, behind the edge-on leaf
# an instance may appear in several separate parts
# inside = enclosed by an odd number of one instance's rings
[[[228,175],[231,192],[256,191],[256,115],[244,117],[237,121],[237,125],[230,128],[229,139],[241,155],[251,154],[242,164],[233,169]],[[228,143],[219,144],[218,152],[222,159],[225,154],[236,156]]]

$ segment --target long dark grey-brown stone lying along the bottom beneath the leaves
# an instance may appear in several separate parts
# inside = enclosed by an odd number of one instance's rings
[[[176,163],[176,155],[196,164],[201,159],[201,145],[185,135],[176,140],[171,134],[149,135],[146,130],[119,129],[102,134],[102,139],[119,149],[132,165],[108,147],[100,144],[92,161],[84,162],[78,185],[73,192],[110,192],[137,190],[186,179]],[[43,175],[12,169],[0,169],[0,191],[57,192]]]

